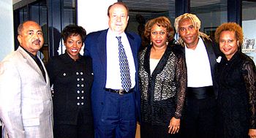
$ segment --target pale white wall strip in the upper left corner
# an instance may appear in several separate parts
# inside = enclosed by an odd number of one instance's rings
[[[12,1],[0,1],[0,61],[14,50]]]

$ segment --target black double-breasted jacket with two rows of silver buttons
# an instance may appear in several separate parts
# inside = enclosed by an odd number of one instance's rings
[[[76,125],[83,122],[91,126],[91,85],[94,79],[91,58],[80,55],[74,61],[64,53],[51,58],[47,69],[53,86],[54,123]]]

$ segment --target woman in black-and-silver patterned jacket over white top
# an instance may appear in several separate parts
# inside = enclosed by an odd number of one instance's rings
[[[184,53],[176,50],[174,29],[165,17],[146,23],[150,45],[140,52],[142,138],[178,137],[187,86]]]

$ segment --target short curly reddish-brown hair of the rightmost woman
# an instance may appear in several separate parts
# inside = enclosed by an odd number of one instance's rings
[[[243,43],[244,34],[241,26],[239,26],[237,23],[222,23],[217,30],[215,31],[215,41],[219,44],[219,36],[222,33],[222,31],[233,31],[235,32],[236,39],[239,42],[239,46]]]

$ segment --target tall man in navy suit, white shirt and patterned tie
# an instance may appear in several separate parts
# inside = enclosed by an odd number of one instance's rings
[[[137,71],[141,40],[138,34],[124,31],[129,20],[129,10],[124,3],[110,5],[108,18],[109,28],[89,34],[84,50],[93,63],[91,102],[95,137],[134,138],[140,112]],[[121,81],[119,46],[125,50],[129,65],[125,67],[129,70],[129,88],[124,88]]]

